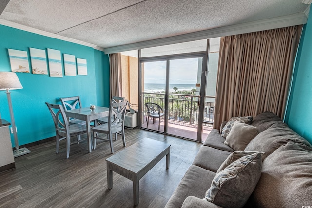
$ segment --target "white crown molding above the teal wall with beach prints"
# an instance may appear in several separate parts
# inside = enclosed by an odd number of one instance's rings
[[[98,47],[95,44],[83,42],[83,41],[80,41],[80,40],[77,40],[77,39],[73,39],[73,38],[67,38],[67,37],[60,36],[60,35],[57,35],[57,34],[54,34],[54,33],[46,32],[46,31],[43,31],[43,30],[39,30],[39,29],[35,29],[35,28],[28,27],[28,26],[25,26],[25,25],[21,25],[21,24],[15,23],[15,22],[7,21],[7,20],[4,20],[4,19],[0,19],[0,24],[4,25],[4,26],[16,28],[16,29],[19,29],[19,30],[27,31],[27,32],[30,32],[30,33],[35,33],[35,34],[38,34],[38,35],[46,36],[46,37],[49,37],[49,38],[56,38],[56,39],[59,39],[59,40],[64,40],[64,41],[67,41],[67,42],[72,42],[72,43],[76,43],[76,44],[79,44],[79,45],[88,46],[88,47],[91,47],[91,48],[94,48],[94,49],[97,49],[97,50],[100,50],[100,51],[104,51],[103,48]]]

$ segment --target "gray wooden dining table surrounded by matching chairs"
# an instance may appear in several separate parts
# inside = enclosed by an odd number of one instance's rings
[[[109,108],[96,106],[96,109],[91,110],[89,107],[77,108],[65,111],[67,117],[76,118],[86,122],[87,139],[88,139],[88,151],[92,151],[92,140],[91,140],[91,122],[99,118],[106,117],[109,114]],[[95,122],[96,125],[96,122]]]

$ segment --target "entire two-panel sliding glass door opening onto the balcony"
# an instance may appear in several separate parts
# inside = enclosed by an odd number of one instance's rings
[[[206,52],[139,58],[140,127],[201,141],[206,70]]]

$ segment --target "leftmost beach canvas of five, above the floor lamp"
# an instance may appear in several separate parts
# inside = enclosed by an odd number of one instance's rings
[[[8,48],[8,52],[12,72],[30,72],[27,51]]]

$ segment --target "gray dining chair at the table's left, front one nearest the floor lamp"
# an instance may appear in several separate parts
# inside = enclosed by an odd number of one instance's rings
[[[86,126],[81,124],[69,125],[63,106],[59,104],[45,103],[52,115],[56,132],[56,153],[59,153],[59,141],[66,139],[66,159],[69,158],[71,144],[80,143],[80,136],[87,132]],[[71,137],[77,136],[76,141],[71,141]]]

